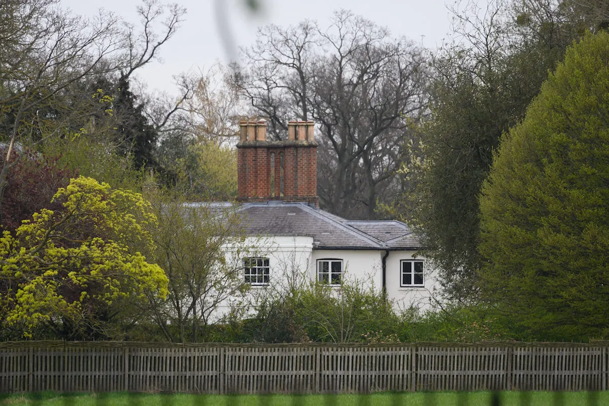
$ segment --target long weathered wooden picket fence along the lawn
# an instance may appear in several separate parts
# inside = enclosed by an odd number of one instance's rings
[[[609,343],[0,343],[0,391],[605,390]]]

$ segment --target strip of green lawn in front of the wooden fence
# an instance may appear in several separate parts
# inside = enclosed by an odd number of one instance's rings
[[[490,392],[376,393],[369,395],[192,395],[192,394],[0,394],[0,405],[49,406],[583,406],[609,405],[607,392]]]

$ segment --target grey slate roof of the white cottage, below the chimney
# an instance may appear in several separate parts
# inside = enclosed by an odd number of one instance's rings
[[[222,211],[230,203],[210,205]],[[350,221],[307,203],[242,203],[238,208],[247,234],[252,236],[313,237],[317,249],[395,250],[420,248],[408,226],[395,220]]]

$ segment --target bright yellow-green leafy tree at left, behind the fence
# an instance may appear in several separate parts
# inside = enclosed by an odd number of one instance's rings
[[[112,306],[167,295],[167,277],[146,261],[157,221],[141,195],[92,178],[72,179],[12,236],[0,238],[0,304],[5,330],[24,337],[108,337]]]

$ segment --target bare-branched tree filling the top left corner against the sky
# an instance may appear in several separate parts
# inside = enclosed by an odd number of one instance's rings
[[[74,97],[62,96],[82,80],[117,72],[128,77],[149,63],[185,10],[169,6],[157,37],[153,25],[166,9],[155,0],[138,8],[141,34],[101,10],[91,19],[72,15],[57,0],[0,0],[0,6],[0,111],[6,131],[0,136],[9,144],[0,172],[2,205],[15,143],[62,134],[65,123],[82,114]]]

